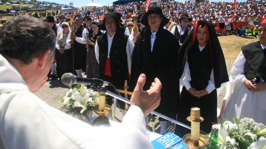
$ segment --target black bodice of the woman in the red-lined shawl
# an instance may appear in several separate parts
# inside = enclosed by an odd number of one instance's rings
[[[187,55],[187,61],[190,69],[190,84],[196,90],[203,90],[209,84],[210,74],[212,72],[212,59],[209,50],[209,44],[200,52],[197,43],[194,43]]]

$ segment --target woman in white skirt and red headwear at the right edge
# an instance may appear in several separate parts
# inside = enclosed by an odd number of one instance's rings
[[[266,19],[258,27],[259,41],[241,48],[233,64],[230,82],[235,84],[223,120],[248,117],[266,124]]]

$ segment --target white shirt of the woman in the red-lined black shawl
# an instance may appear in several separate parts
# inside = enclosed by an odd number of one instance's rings
[[[201,47],[199,45],[199,49],[200,49],[200,52],[205,48],[205,46]],[[185,88],[187,90],[189,90],[191,87],[190,85],[190,81],[191,81],[191,76],[190,76],[190,69],[189,69],[189,64],[188,64],[188,61],[187,61],[187,58],[186,58],[186,63],[185,63],[185,68],[184,68],[184,72],[180,78],[180,84],[185,86]],[[210,79],[209,79],[209,84],[207,85],[207,87],[205,88],[206,91],[208,93],[211,93],[214,89],[215,89],[215,84],[214,84],[214,76],[213,76],[213,68],[212,68],[212,71],[211,71],[211,75],[210,75]]]

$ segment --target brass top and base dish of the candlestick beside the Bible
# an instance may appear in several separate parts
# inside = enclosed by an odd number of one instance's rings
[[[187,117],[187,120],[190,122],[202,122],[204,119],[200,116],[200,108],[192,107],[190,110],[190,116]],[[192,131],[191,127],[191,131]],[[200,133],[200,132],[199,132]],[[191,149],[200,149],[208,145],[208,138],[205,135],[200,135],[199,140],[192,140],[191,133],[188,133],[183,136],[182,140],[187,146]]]

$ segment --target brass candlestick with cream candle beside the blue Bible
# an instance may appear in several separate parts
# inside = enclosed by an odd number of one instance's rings
[[[200,108],[192,107],[187,120],[191,122],[191,133],[183,136],[182,140],[191,149],[200,149],[208,145],[208,138],[200,134],[200,122],[204,119],[200,117]]]

